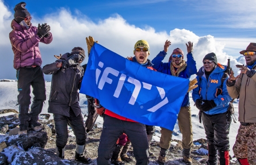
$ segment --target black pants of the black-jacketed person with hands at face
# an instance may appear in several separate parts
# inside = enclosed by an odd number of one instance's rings
[[[56,146],[58,148],[64,148],[67,144],[68,129],[67,125],[71,126],[74,132],[75,139],[78,145],[85,145],[87,133],[85,131],[85,124],[83,123],[83,116],[80,113],[75,116],[74,112],[70,108],[70,117],[63,116],[61,114],[54,113],[54,122],[56,129]]]

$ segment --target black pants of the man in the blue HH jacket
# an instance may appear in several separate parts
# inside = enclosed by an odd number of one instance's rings
[[[204,124],[205,134],[209,144],[213,144],[219,151],[228,151],[230,141],[230,123],[228,113],[209,115],[202,113],[202,122]]]

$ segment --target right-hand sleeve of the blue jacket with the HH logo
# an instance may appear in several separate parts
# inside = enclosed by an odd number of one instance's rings
[[[222,93],[218,95],[215,99],[214,102],[216,103],[216,106],[220,105],[227,105],[228,102],[232,100],[230,95],[228,94],[227,86],[226,86],[227,79],[224,80],[223,86],[222,86]]]

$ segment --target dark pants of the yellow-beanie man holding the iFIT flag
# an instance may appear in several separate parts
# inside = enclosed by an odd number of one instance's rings
[[[145,125],[139,122],[119,120],[106,115],[98,147],[98,165],[110,165],[114,145],[116,145],[117,139],[123,133],[131,140],[136,164],[148,164],[150,162],[148,159],[148,141]]]

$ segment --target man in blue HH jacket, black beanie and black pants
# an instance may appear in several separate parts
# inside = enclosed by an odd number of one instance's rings
[[[217,63],[215,53],[205,55],[202,63],[204,66],[197,72],[198,87],[193,90],[192,98],[201,112],[207,135],[209,153],[207,164],[217,165],[217,150],[219,150],[220,165],[228,165],[230,164],[228,133],[231,123],[228,105],[231,97],[225,85],[227,79],[221,81],[227,67]]]

